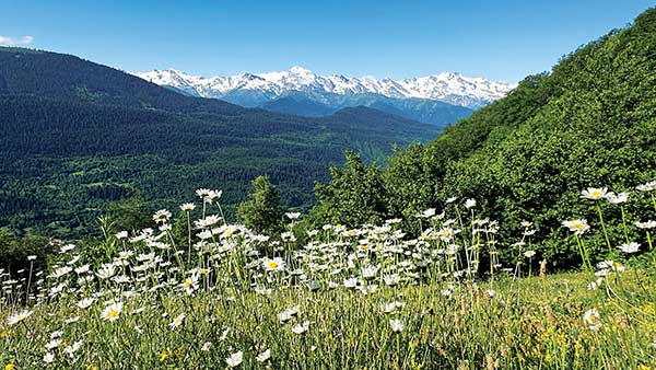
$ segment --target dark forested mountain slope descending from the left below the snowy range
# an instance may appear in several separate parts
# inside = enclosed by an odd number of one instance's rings
[[[437,134],[371,109],[311,119],[184,96],[46,51],[0,48],[0,227],[62,236],[90,232],[109,201],[173,210],[199,186],[223,189],[230,213],[260,174],[308,207],[347,149],[383,160]]]

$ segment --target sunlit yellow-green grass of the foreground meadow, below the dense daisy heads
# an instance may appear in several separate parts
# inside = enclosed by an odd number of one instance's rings
[[[171,297],[157,309],[151,308],[160,305],[157,300],[142,297],[124,308],[115,323],[102,322],[97,305],[82,311],[73,302],[60,301],[37,309],[25,325],[8,327],[10,311],[3,309],[0,361],[15,361],[17,368],[42,363],[48,333],[62,329],[66,343],[83,337],[84,344],[73,360],[56,367],[221,368],[231,352],[243,350],[244,368],[265,368],[255,356],[270,348],[267,365],[274,369],[635,369],[656,366],[655,308],[645,294],[656,286],[644,273],[640,273],[642,287],[628,273],[611,284],[621,294],[612,300],[606,300],[602,290],[586,288],[589,275],[563,274],[503,279],[478,288],[460,286],[450,299],[441,296],[440,286],[387,288],[370,296],[301,289],[226,299],[230,292],[216,292],[192,299]],[[494,298],[488,297],[487,289],[495,290]],[[382,313],[379,303],[393,300],[407,305],[393,314]],[[277,314],[296,304],[298,317],[281,324]],[[599,331],[590,331],[582,319],[593,307],[602,317]],[[139,308],[145,311],[129,314]],[[169,328],[180,312],[187,313],[184,324]],[[63,323],[78,315],[79,322]],[[390,329],[391,317],[405,321],[403,332]],[[311,322],[309,331],[292,333],[291,326],[304,320]],[[33,339],[25,338],[26,332]],[[206,342],[212,343],[207,352],[200,350]]]

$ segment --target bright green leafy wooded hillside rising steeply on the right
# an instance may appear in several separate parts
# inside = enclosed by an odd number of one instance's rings
[[[539,257],[573,265],[576,243],[563,244],[561,226],[573,216],[598,231],[593,253],[602,257],[597,207],[582,203],[578,192],[596,185],[620,193],[656,177],[656,10],[563,57],[551,72],[526,78],[430,143],[397,152],[384,171],[350,158],[332,176],[318,187],[313,212],[324,221],[403,217],[417,227],[413,215],[445,209],[458,196],[475,198],[501,222],[508,258],[509,235],[532,221]],[[640,193],[633,206],[598,204],[611,244],[634,236],[622,233],[622,213],[625,222],[640,221],[634,207],[651,201]]]

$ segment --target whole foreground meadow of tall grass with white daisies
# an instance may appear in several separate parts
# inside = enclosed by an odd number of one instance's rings
[[[595,190],[585,197],[612,199]],[[220,192],[198,195],[201,207],[183,205],[179,222],[166,210],[153,216],[156,229],[113,233],[105,222],[97,245],[54,245],[47,271],[3,271],[0,361],[8,369],[656,366],[654,222],[636,220],[646,247],[628,240],[616,247],[621,258],[593,266],[589,226],[569,220],[583,271],[546,275],[546,263],[530,267],[530,222],[515,243],[520,262],[499,264],[499,226],[473,199],[417,215],[419,235],[400,220],[298,235],[297,213],[281,235],[261,235],[225,221]],[[642,263],[624,266],[629,255]]]

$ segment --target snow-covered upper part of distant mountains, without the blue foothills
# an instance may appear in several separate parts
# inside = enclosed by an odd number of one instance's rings
[[[174,69],[136,74],[189,95],[223,99],[246,106],[260,106],[290,92],[302,92],[315,102],[329,105],[333,105],[338,96],[374,94],[390,99],[441,101],[476,109],[503,97],[514,88],[509,83],[459,73],[377,80],[373,77],[318,76],[302,67],[281,72],[211,78],[195,77]]]

